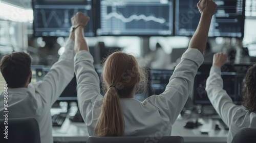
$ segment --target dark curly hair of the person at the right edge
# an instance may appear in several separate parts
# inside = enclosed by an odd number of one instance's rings
[[[256,64],[252,65],[244,78],[243,105],[249,113],[256,113]]]

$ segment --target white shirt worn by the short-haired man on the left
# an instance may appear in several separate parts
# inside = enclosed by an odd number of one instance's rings
[[[65,52],[43,81],[30,83],[28,88],[8,89],[8,118],[34,117],[39,124],[41,143],[53,142],[50,109],[74,77],[74,56],[74,41],[69,40]],[[3,111],[4,92],[0,94],[0,118],[4,117]]]

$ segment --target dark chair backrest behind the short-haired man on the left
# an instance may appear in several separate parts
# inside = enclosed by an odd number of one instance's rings
[[[33,117],[0,119],[0,142],[40,143],[37,121]]]

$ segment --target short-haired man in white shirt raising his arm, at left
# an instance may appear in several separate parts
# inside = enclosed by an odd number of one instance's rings
[[[74,77],[74,32],[65,52],[51,67],[44,80],[30,83],[31,57],[14,52],[2,58],[0,70],[8,84],[8,118],[34,117],[39,125],[41,143],[53,142],[50,109]],[[4,110],[4,92],[0,94],[0,118]]]

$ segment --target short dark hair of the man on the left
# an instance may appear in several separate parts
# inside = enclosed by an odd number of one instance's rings
[[[24,52],[13,52],[2,58],[0,70],[9,87],[18,88],[26,84],[31,61],[31,57]]]

